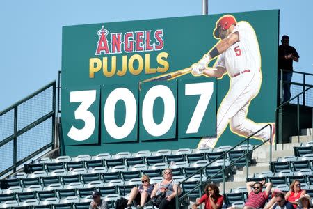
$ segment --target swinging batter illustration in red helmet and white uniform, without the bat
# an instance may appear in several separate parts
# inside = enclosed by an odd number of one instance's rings
[[[213,148],[228,123],[230,130],[242,137],[249,137],[267,124],[246,118],[250,101],[259,93],[262,83],[261,54],[255,30],[248,22],[236,22],[232,15],[224,15],[216,22],[214,38],[219,41],[198,63],[191,66],[191,73],[193,76],[218,79],[227,73],[230,88],[218,108],[216,136],[202,138],[198,148]],[[216,57],[214,68],[208,68],[209,62]],[[270,127],[266,127],[254,137],[264,141],[274,133],[275,127],[272,132]]]

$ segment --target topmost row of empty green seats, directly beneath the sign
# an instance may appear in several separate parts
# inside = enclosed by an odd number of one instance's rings
[[[246,153],[247,145],[241,145],[226,156],[227,159],[234,161],[238,157]],[[33,173],[34,171],[54,171],[56,169],[75,169],[83,168],[90,169],[93,167],[114,167],[117,165],[133,166],[134,164],[147,164],[148,166],[156,163],[167,162],[179,162],[186,161],[188,163],[196,162],[198,160],[209,160],[209,162],[215,160],[220,155],[223,155],[227,150],[230,150],[232,146],[220,146],[219,148],[199,148],[189,149],[182,148],[179,150],[158,150],[156,152],[150,152],[148,150],[142,150],[138,153],[122,152],[115,155],[109,153],[101,153],[96,156],[79,155],[77,157],[60,156],[56,159],[50,159],[42,157],[38,162],[25,165],[26,173]],[[249,146],[252,150],[253,146]],[[243,160],[244,161],[244,160]]]

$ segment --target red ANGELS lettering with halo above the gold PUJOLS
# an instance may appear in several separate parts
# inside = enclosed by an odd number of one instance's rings
[[[126,33],[110,33],[102,28],[97,32],[99,40],[95,55],[119,54],[123,52],[159,51],[164,47],[163,30],[157,29],[152,33],[147,31],[131,31]]]

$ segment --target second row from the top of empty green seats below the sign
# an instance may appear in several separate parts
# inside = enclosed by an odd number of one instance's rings
[[[72,182],[90,183],[94,180],[102,180],[109,182],[110,180],[122,179],[131,180],[133,178],[140,178],[143,174],[147,174],[150,177],[161,176],[162,169],[170,167],[174,176],[191,176],[195,171],[198,171],[200,167],[204,167],[209,162],[207,160],[200,160],[189,164],[187,162],[176,162],[175,164],[159,163],[153,166],[147,167],[145,164],[137,164],[134,167],[116,166],[112,169],[106,169],[105,167],[96,167],[94,169],[74,169],[73,171],[66,171],[65,169],[56,170],[51,173],[45,171],[35,171],[31,174],[17,173],[16,178],[7,178],[1,180],[1,188],[7,189],[12,186],[29,187],[30,185],[42,185],[47,186],[51,183],[62,183],[67,185]],[[225,160],[225,166],[230,164],[229,160]],[[204,176],[214,176],[218,171],[221,171],[224,167],[224,160],[217,160],[213,162],[202,171]],[[231,169],[225,171],[226,176],[232,174]],[[219,177],[218,177],[219,176]],[[219,173],[218,176],[214,176],[214,180],[221,181],[223,173]]]

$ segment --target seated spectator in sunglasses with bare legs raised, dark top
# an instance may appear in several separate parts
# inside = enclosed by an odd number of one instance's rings
[[[134,187],[131,189],[129,194],[129,199],[127,202],[127,208],[131,208],[131,202],[136,201],[137,205],[143,206],[147,201],[149,201],[151,192],[154,189],[154,185],[150,184],[150,178],[147,175],[141,177],[141,183],[139,187]]]

